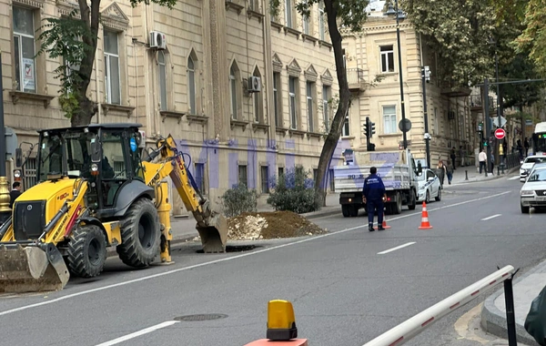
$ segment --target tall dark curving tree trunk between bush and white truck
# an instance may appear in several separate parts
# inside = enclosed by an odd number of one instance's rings
[[[343,49],[341,47],[342,37],[339,34],[337,23],[338,10],[334,6],[332,0],[325,0],[324,7],[328,18],[329,36],[332,41],[332,46],[334,47],[334,59],[336,60],[336,73],[338,75],[339,84],[339,105],[319,158],[319,171],[317,173],[317,180],[315,181],[315,198],[317,198],[319,206],[326,206],[326,193],[328,188],[328,175],[326,173],[329,169],[334,151],[338,146],[341,129],[343,128],[350,102],[349,84],[347,82],[347,72],[343,62]]]

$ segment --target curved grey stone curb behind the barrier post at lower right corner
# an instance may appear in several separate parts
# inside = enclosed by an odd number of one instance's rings
[[[517,280],[512,281],[512,285],[515,289],[515,286],[525,278],[529,277],[531,274],[539,271],[542,268],[546,268],[546,260],[542,261],[538,265],[536,265],[531,270],[528,270],[526,273],[521,275]],[[495,293],[491,294],[490,297],[488,297],[484,303],[483,303],[483,309],[481,310],[481,321],[480,326],[483,329],[483,331],[487,331],[490,334],[496,335],[500,338],[507,339],[508,338],[508,330],[506,328],[506,312],[503,312],[499,310],[495,306],[495,300],[501,296],[501,294],[504,293],[504,289],[497,290]],[[531,334],[529,334],[523,325],[518,323],[516,320],[516,337],[518,342],[525,343],[527,345],[539,345],[537,341],[535,341]]]

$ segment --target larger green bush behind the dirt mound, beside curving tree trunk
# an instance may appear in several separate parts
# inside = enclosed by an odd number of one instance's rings
[[[276,210],[288,210],[298,214],[319,210],[320,204],[313,188],[310,171],[290,169],[272,184],[274,191],[269,194],[268,204]]]

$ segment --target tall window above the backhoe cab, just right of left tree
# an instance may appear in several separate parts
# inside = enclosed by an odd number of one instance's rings
[[[116,32],[109,30],[104,31],[104,36],[106,103],[121,105],[118,36]]]

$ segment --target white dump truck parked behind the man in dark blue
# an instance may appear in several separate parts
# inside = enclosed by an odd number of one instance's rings
[[[352,151],[344,153],[343,166],[334,167],[334,187],[339,193],[339,204],[346,218],[359,215],[359,209],[366,210],[362,201],[364,179],[369,168],[378,169],[387,193],[385,211],[399,214],[402,206],[415,209],[419,183],[417,177],[422,168],[415,164],[410,149],[400,151]]]

